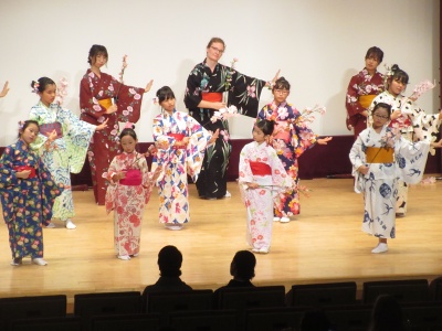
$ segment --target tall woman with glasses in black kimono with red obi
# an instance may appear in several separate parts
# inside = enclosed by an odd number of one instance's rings
[[[207,56],[202,63],[194,66],[187,79],[185,96],[186,107],[190,115],[207,130],[220,136],[212,149],[208,150],[203,160],[201,173],[197,181],[200,197],[214,200],[230,196],[227,191],[225,171],[229,166],[231,145],[229,143],[228,122],[210,119],[215,110],[234,105],[240,114],[256,117],[261,90],[272,83],[245,76],[233,68],[219,64],[224,53],[225,44],[220,38],[212,38],[207,45]],[[276,74],[273,82],[277,78]],[[223,93],[228,99],[223,100]]]

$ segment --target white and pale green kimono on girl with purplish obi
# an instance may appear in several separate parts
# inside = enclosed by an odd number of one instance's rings
[[[62,183],[65,188],[63,193],[55,199],[52,216],[61,220],[73,217],[75,211],[71,172],[78,173],[82,170],[95,126],[80,120],[72,111],[57,104],[51,104],[46,107],[41,102],[31,108],[29,119],[36,120],[39,125],[56,121],[62,126],[63,137],[57,138],[49,150],[44,147],[48,137],[42,134],[39,134],[31,147],[39,150],[43,163],[48,167],[55,182]]]

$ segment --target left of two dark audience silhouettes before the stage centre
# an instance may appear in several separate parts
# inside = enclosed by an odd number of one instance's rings
[[[160,277],[156,284],[149,285],[143,291],[143,302],[146,305],[147,296],[151,292],[190,291],[192,288],[183,282],[181,276],[182,255],[175,246],[165,246],[158,253],[158,267]]]

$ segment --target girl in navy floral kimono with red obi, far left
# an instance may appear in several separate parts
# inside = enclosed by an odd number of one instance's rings
[[[30,145],[39,135],[39,124],[27,120],[19,140],[7,147],[0,159],[0,192],[3,218],[9,231],[12,266],[31,256],[32,263],[45,266],[42,224],[51,222],[54,199],[63,185],[52,180],[39,154]],[[55,138],[50,136],[49,139]]]

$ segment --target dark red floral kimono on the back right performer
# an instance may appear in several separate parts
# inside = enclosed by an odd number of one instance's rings
[[[364,107],[359,98],[360,96],[378,95],[385,89],[383,75],[376,72],[372,76],[367,70],[360,71],[352,76],[347,88],[346,108],[347,108],[347,127],[352,127],[355,137],[367,128],[367,117],[361,115],[367,107]]]

